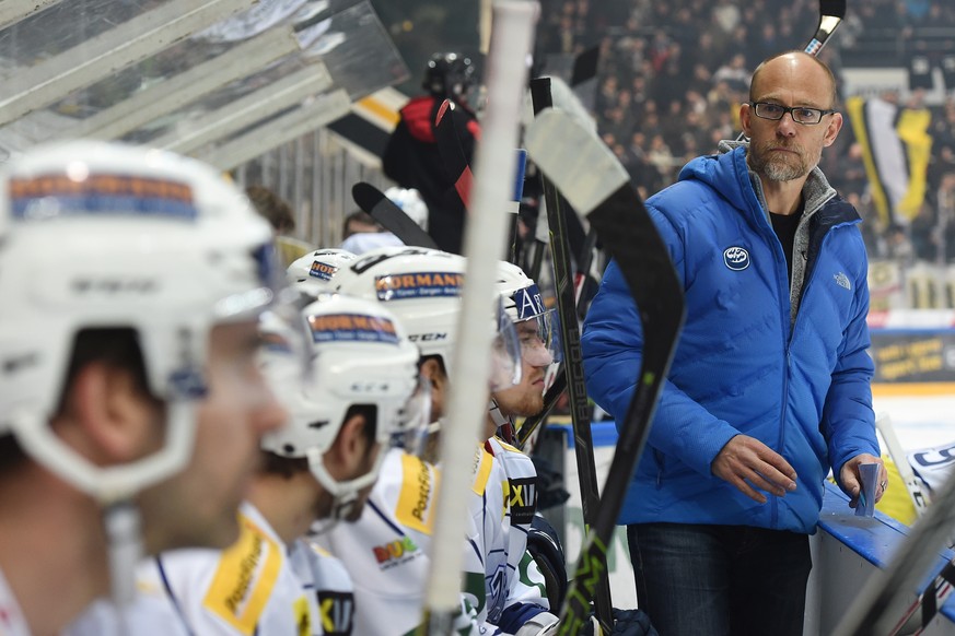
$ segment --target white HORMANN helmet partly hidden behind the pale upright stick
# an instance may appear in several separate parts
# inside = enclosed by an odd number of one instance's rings
[[[440,356],[450,374],[466,264],[464,257],[436,249],[381,248],[342,269],[336,288],[387,304],[421,355]],[[509,322],[498,319],[489,325],[498,333],[491,378],[498,389],[520,381],[520,343]]]

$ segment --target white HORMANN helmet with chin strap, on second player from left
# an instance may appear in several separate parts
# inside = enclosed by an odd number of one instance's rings
[[[335,497],[333,515],[347,517],[359,492],[377,479],[387,448],[399,444],[407,429],[428,424],[431,398],[418,390],[417,348],[380,303],[323,294],[302,315],[311,332],[315,370],[303,385],[281,346],[264,353],[265,375],[290,417],[283,428],[263,438],[263,448],[281,457],[306,458],[312,473]],[[266,341],[272,342],[268,335]],[[358,405],[375,408],[375,438],[382,448],[371,471],[339,482],[323,457],[349,409]]]

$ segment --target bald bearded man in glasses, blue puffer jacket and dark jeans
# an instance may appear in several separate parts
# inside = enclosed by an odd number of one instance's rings
[[[817,164],[842,127],[836,82],[790,51],[753,75],[749,142],[691,161],[647,209],[683,278],[687,322],[629,485],[640,606],[660,634],[801,636],[823,481],[855,506],[878,464],[860,217]],[[612,263],[583,333],[590,394],[621,421],[638,310]]]

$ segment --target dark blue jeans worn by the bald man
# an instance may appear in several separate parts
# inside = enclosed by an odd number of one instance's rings
[[[627,539],[638,605],[660,636],[802,636],[808,535],[637,523]]]

